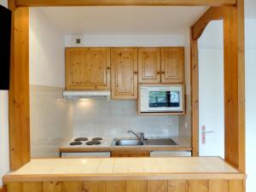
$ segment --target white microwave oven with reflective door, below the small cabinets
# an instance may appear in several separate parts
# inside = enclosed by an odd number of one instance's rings
[[[183,84],[140,84],[141,113],[183,113]]]

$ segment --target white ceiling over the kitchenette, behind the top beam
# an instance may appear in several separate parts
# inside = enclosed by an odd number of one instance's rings
[[[65,34],[178,34],[207,7],[55,7],[40,11]]]

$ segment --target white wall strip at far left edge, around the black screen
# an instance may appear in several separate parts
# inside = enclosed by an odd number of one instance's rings
[[[0,4],[7,7],[8,1],[1,0]],[[9,91],[0,90],[0,186],[2,177],[9,172]]]

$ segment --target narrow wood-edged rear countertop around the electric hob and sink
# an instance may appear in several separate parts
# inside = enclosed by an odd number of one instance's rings
[[[112,152],[112,151],[125,151],[125,150],[140,150],[140,151],[190,151],[192,150],[189,139],[185,137],[171,137],[177,145],[143,145],[143,146],[90,146],[90,147],[61,147],[61,153],[68,152]]]

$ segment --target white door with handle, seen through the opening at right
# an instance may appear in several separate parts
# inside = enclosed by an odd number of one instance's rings
[[[212,21],[199,39],[199,151],[224,157],[223,22]]]

